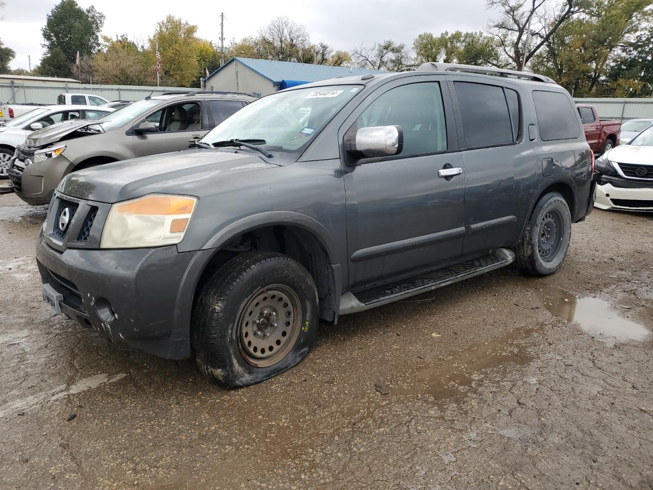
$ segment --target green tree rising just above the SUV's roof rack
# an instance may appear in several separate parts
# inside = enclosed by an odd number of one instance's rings
[[[482,32],[445,31],[438,37],[423,33],[415,38],[413,50],[417,64],[428,61],[465,65],[505,65],[498,42]]]

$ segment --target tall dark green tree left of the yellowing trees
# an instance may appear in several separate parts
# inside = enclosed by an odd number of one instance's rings
[[[46,16],[41,29],[46,54],[41,60],[40,73],[46,76],[71,76],[71,64],[77,52],[93,56],[100,46],[99,35],[104,14],[91,5],[84,8],[75,0],[61,0]]]

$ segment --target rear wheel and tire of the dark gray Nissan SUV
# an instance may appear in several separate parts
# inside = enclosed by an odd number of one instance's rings
[[[515,265],[534,276],[556,272],[569,250],[571,213],[564,197],[549,192],[541,197],[515,247]]]

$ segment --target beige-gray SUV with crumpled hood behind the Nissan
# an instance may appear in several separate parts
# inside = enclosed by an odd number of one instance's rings
[[[184,150],[255,101],[251,93],[165,93],[136,101],[99,121],[73,120],[31,133],[7,174],[18,197],[48,204],[63,176],[103,163]]]

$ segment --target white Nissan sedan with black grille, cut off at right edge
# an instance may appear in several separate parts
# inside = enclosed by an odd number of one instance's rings
[[[653,126],[597,158],[596,171],[594,206],[653,211]]]

